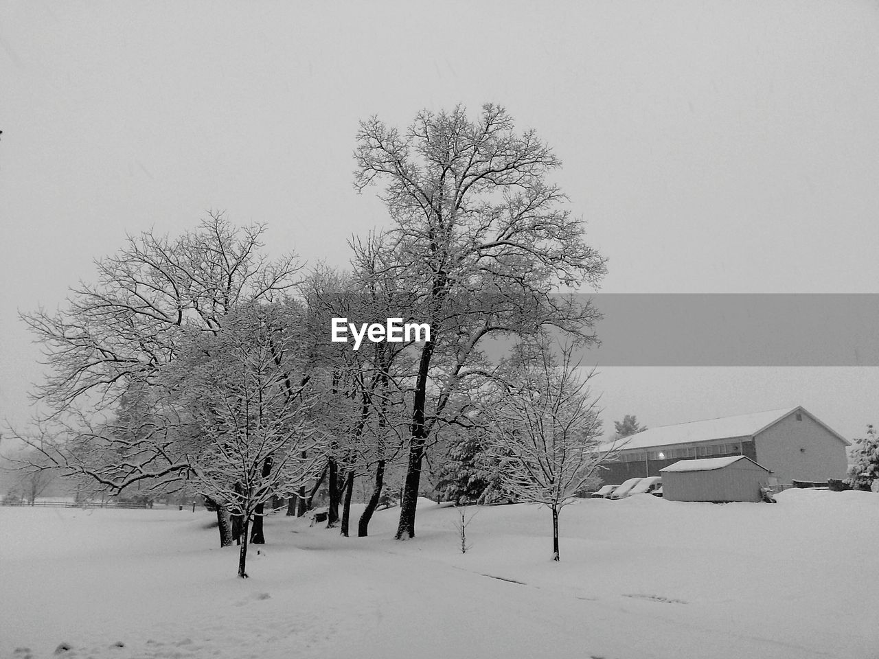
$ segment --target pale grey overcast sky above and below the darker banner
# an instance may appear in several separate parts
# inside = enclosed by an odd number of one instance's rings
[[[0,416],[62,305],[126,233],[209,208],[344,265],[386,223],[358,121],[505,105],[564,163],[612,293],[879,293],[879,4],[0,4]],[[879,423],[879,369],[608,368],[607,424],[803,404]]]

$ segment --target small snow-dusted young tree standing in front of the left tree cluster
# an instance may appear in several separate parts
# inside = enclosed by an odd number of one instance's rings
[[[323,461],[323,438],[309,418],[308,378],[293,379],[300,337],[290,323],[277,322],[275,310],[237,308],[221,330],[183,346],[163,373],[169,398],[189,420],[181,443],[194,487],[243,520],[241,577],[249,526],[261,506],[294,491]]]

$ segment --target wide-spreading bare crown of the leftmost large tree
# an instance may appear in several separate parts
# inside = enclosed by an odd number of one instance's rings
[[[97,283],[71,289],[66,308],[22,315],[51,367],[34,394],[46,414],[32,443],[50,464],[116,492],[185,479],[178,418],[153,391],[156,375],[185,337],[216,333],[236,305],[294,286],[298,262],[261,254],[264,233],[212,213],[177,238],[129,236],[96,262]]]

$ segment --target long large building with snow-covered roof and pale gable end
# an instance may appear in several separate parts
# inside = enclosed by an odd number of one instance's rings
[[[616,453],[601,478],[621,483],[658,476],[681,459],[741,456],[773,472],[776,482],[845,478],[846,438],[802,406],[657,426],[602,446]]]

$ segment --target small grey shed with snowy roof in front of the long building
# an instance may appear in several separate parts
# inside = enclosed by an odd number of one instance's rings
[[[660,470],[663,498],[669,501],[760,501],[769,470],[744,455],[679,460]]]

